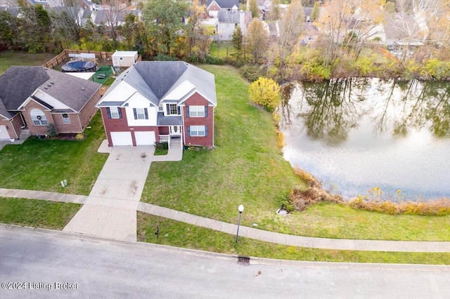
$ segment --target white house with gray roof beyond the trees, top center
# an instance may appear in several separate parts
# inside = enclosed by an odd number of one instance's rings
[[[252,13],[250,11],[219,11],[216,25],[219,40],[231,41],[233,32],[238,26],[243,35],[246,35],[250,22],[252,22]]]

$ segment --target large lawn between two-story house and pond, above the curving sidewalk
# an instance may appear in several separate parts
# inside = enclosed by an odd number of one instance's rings
[[[204,66],[215,74],[217,149],[184,151],[183,161],[153,163],[142,201],[207,218],[311,237],[450,241],[450,216],[386,215],[336,204],[276,215],[295,185],[294,175],[276,145],[271,115],[248,102],[248,83],[233,67]]]

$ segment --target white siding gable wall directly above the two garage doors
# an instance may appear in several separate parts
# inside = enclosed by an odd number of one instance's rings
[[[158,107],[153,106],[149,100],[139,93],[134,93],[127,100],[127,104],[128,106],[125,107],[125,111],[127,113],[128,126],[156,126]],[[134,119],[134,108],[146,108],[148,119]]]

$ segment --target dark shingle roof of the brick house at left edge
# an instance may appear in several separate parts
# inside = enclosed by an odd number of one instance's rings
[[[39,88],[79,112],[100,86],[45,67],[10,67],[0,76],[0,100],[6,109],[18,110]]]

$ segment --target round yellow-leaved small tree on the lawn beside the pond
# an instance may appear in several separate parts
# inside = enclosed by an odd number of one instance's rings
[[[248,98],[267,111],[273,112],[281,102],[280,86],[272,79],[259,77],[257,81],[250,84],[248,88]]]

